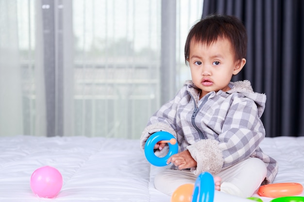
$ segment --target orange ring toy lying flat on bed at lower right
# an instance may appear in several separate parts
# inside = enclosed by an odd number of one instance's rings
[[[275,183],[260,186],[258,194],[260,196],[278,198],[284,196],[299,195],[303,192],[303,186],[299,183]]]

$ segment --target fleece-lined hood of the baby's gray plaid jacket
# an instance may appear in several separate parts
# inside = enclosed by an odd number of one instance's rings
[[[200,90],[194,85],[192,80],[188,80],[185,82],[185,85],[188,86],[188,91],[191,94],[199,93]],[[266,104],[266,95],[264,93],[255,93],[253,92],[253,88],[249,80],[236,81],[229,83],[230,90],[225,93],[241,93],[245,97],[253,100],[258,108],[258,116],[261,118]],[[191,89],[191,90],[190,90]]]

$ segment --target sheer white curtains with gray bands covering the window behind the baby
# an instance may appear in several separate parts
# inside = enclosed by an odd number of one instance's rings
[[[0,136],[139,138],[161,85],[173,96],[190,78],[184,43],[203,2],[172,2],[164,15],[161,0],[0,0]]]

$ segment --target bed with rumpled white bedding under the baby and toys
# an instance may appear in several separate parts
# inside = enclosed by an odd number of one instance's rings
[[[155,173],[165,167],[146,160],[139,140],[17,136],[1,137],[0,144],[0,202],[170,202],[153,186]],[[261,148],[279,162],[274,183],[304,185],[304,137],[266,138]],[[47,165],[63,176],[52,199],[35,196],[30,187],[32,173]],[[251,201],[229,197],[224,201]]]

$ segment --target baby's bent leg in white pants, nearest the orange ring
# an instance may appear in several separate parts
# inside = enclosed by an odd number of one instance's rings
[[[239,197],[251,197],[266,177],[267,168],[259,158],[249,158],[221,171],[220,190]]]

